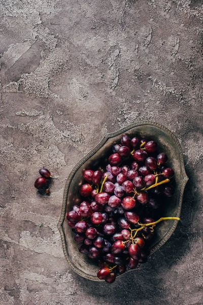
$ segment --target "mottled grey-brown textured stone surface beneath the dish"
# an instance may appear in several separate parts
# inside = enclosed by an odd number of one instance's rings
[[[201,0],[1,0],[1,305],[202,304]],[[149,119],[179,138],[175,233],[108,285],[67,265],[65,179],[107,132]],[[33,182],[45,166],[50,197]]]

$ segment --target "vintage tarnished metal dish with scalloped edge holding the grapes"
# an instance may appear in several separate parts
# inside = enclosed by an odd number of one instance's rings
[[[65,214],[70,211],[74,204],[81,202],[79,187],[84,183],[83,169],[105,169],[108,164],[107,156],[112,154],[112,145],[120,141],[121,134],[126,134],[130,137],[139,136],[148,140],[153,139],[158,143],[158,151],[164,151],[168,156],[168,164],[175,171],[173,184],[176,191],[174,196],[166,198],[161,217],[180,217],[183,192],[188,180],[181,147],[177,138],[164,126],[151,121],[139,121],[119,131],[106,134],[103,140],[76,164],[65,184],[58,229],[61,234],[63,252],[69,265],[80,276],[93,281],[103,281],[96,277],[98,266],[93,261],[90,261],[86,255],[78,251],[78,243],[74,240],[72,229],[67,225]],[[157,225],[156,236],[152,239],[150,245],[150,254],[159,249],[170,238],[177,223],[178,221],[175,220],[161,222]],[[139,268],[139,265],[137,268]],[[131,271],[131,269],[128,271]]]

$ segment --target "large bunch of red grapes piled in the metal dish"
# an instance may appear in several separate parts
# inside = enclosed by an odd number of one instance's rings
[[[154,226],[178,219],[159,219],[162,196],[174,194],[170,184],[174,171],[166,162],[166,154],[157,153],[156,142],[124,135],[113,146],[106,171],[83,172],[84,200],[66,217],[75,241],[81,243],[79,251],[98,261],[99,279],[113,283],[126,267],[145,263]]]

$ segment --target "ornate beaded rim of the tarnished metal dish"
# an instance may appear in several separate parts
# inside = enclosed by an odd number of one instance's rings
[[[132,123],[130,125],[127,125],[115,132],[112,133],[108,133],[105,134],[104,138],[93,148],[89,151],[88,154],[86,154],[72,169],[71,173],[69,174],[69,177],[66,180],[65,183],[65,188],[64,188],[64,192],[63,192],[63,202],[62,202],[62,209],[61,209],[61,215],[60,215],[60,219],[59,222],[57,224],[57,228],[60,232],[60,236],[61,236],[61,240],[62,240],[62,248],[63,248],[63,253],[64,256],[67,260],[67,262],[69,263],[70,267],[76,272],[78,273],[78,275],[82,276],[83,278],[92,280],[92,281],[99,281],[99,282],[104,282],[104,280],[100,280],[97,277],[93,277],[93,276],[89,276],[87,275],[85,272],[81,271],[80,269],[78,269],[70,260],[69,255],[67,254],[67,250],[66,250],[66,246],[65,246],[65,237],[64,237],[64,232],[63,232],[63,228],[62,228],[62,223],[65,217],[65,208],[66,208],[66,201],[67,201],[67,193],[69,191],[69,186],[70,186],[70,182],[75,174],[75,172],[78,170],[78,168],[88,159],[90,158],[101,146],[104,145],[104,143],[109,139],[112,138],[114,136],[117,136],[123,132],[126,132],[127,130],[137,127],[137,126],[141,126],[141,125],[151,125],[151,126],[155,126],[165,132],[167,132],[168,134],[170,134],[170,136],[174,139],[177,147],[178,147],[178,151],[179,151],[179,157],[180,157],[180,162],[181,162],[181,172],[183,175],[183,180],[182,180],[182,184],[181,184],[181,188],[180,188],[180,195],[179,195],[179,203],[178,203],[178,209],[177,209],[177,214],[176,217],[180,217],[181,214],[181,206],[182,206],[182,201],[183,201],[183,193],[184,193],[184,189],[186,186],[186,183],[188,181],[188,176],[185,172],[185,166],[184,166],[184,160],[183,160],[183,153],[182,153],[182,149],[180,146],[180,143],[177,139],[177,137],[166,127],[164,127],[163,125],[156,123],[154,121],[138,121],[137,123]],[[178,224],[177,220],[173,221],[173,225],[171,226],[170,230],[168,230],[168,232],[166,233],[166,235],[157,243],[157,245],[155,245],[151,251],[150,251],[150,255],[152,253],[154,253],[156,250],[158,250],[167,240],[168,238],[171,237],[171,235],[173,234],[173,232],[176,229],[176,226]],[[137,266],[136,269],[138,269],[140,267],[140,264]],[[129,269],[127,270],[127,272],[132,271],[135,269]],[[125,272],[126,273],[126,272]],[[119,275],[120,276],[120,275]]]

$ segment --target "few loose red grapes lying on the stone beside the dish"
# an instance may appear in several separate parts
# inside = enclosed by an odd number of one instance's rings
[[[41,177],[35,181],[35,188],[38,189],[42,194],[50,194],[49,185],[52,179],[51,173],[47,168],[41,168],[39,170]]]

